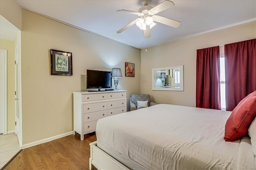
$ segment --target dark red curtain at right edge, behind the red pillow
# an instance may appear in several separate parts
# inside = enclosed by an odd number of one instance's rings
[[[225,45],[226,110],[256,90],[256,39]]]

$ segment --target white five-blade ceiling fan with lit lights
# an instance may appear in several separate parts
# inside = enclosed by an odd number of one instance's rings
[[[168,26],[171,26],[171,27],[174,27],[174,28],[177,28],[177,27],[180,26],[179,21],[171,20],[169,18],[165,18],[165,17],[161,17],[161,16],[156,15],[158,12],[161,12],[163,10],[166,10],[166,9],[171,8],[172,6],[174,6],[174,3],[172,1],[165,0],[164,2],[155,6],[154,8],[152,6],[148,6],[150,1],[151,0],[141,0],[142,4],[144,6],[141,7],[138,10],[138,12],[129,11],[129,10],[117,10],[117,12],[125,12],[125,13],[135,14],[139,18],[132,21],[128,25],[122,27],[121,29],[119,29],[116,32],[121,33],[124,30],[126,30],[128,27],[136,24],[137,27],[139,27],[140,29],[142,29],[144,31],[144,37],[149,38],[151,36],[150,29],[153,28],[156,25],[156,23],[154,23],[154,21],[159,22],[159,23],[163,23],[165,25],[168,25]]]

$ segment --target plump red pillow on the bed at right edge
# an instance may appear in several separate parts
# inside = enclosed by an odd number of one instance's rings
[[[246,135],[256,117],[256,91],[246,96],[234,108],[225,125],[225,141],[236,141]]]

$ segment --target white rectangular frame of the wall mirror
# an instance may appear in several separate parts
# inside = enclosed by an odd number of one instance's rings
[[[154,72],[155,71],[161,71],[161,70],[171,70],[171,69],[177,69],[180,68],[180,87],[155,87],[155,77]],[[168,66],[168,67],[160,67],[160,68],[152,68],[152,90],[168,90],[168,91],[184,91],[184,80],[183,80],[183,65],[178,66]]]

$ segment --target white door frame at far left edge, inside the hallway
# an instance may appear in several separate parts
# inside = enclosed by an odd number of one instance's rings
[[[7,134],[7,50],[0,49],[0,130]]]

